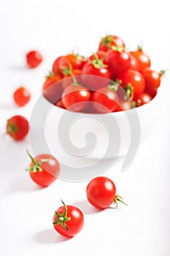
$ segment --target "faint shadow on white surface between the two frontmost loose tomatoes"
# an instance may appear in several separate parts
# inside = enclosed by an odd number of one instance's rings
[[[98,208],[90,205],[90,203],[88,203],[88,201],[86,201],[86,200],[76,201],[76,202],[74,202],[74,206],[77,206],[77,208],[80,208],[80,210],[84,214],[96,214],[100,211],[103,211],[103,209],[98,209]]]

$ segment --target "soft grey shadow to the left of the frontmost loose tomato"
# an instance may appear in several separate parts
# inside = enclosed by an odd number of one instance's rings
[[[71,238],[60,236],[53,229],[42,230],[39,233],[36,233],[34,240],[39,244],[56,244],[67,241]]]

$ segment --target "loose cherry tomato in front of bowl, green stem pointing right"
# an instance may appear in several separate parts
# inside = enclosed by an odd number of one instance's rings
[[[123,198],[116,195],[114,182],[107,177],[93,178],[86,188],[86,195],[88,201],[96,208],[108,208],[111,204],[117,206],[117,201],[124,203]]]

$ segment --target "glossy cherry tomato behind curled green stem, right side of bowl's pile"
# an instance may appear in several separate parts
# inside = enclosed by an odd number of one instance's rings
[[[125,89],[128,84],[132,86],[134,92],[134,99],[138,99],[139,95],[144,92],[145,81],[143,75],[133,69],[128,69],[117,76],[118,80],[121,80],[121,86]]]

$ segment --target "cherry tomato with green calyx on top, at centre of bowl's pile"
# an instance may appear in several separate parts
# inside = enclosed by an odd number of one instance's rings
[[[88,61],[82,68],[82,82],[90,90],[96,90],[100,87],[107,86],[110,79],[109,69],[98,56]]]

